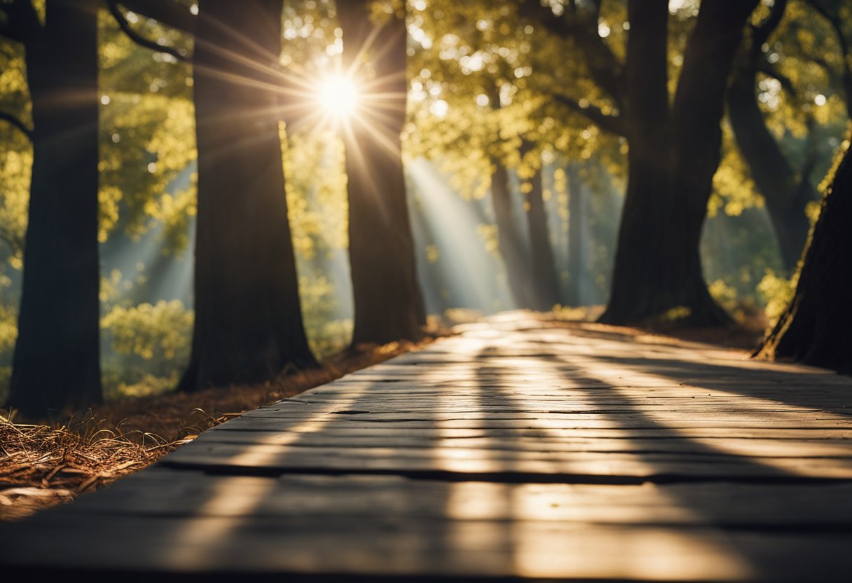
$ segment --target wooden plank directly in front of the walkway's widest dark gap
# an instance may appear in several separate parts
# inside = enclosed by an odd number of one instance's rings
[[[128,505],[132,500],[132,505]],[[852,483],[501,484],[398,476],[206,476],[153,469],[67,514],[585,522],[835,532],[852,525]]]

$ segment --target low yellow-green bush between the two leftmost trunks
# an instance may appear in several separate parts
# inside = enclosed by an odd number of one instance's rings
[[[119,355],[137,355],[150,361],[187,361],[193,313],[180,300],[116,306],[101,319],[112,349]]]

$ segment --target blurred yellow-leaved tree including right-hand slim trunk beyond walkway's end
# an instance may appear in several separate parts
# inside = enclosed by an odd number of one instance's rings
[[[509,3],[420,3],[411,28],[412,152],[466,183],[460,188],[464,197],[480,198],[490,187],[499,257],[514,303],[550,309],[559,291],[541,172],[543,157],[552,161],[554,150],[567,144],[565,126],[556,126],[553,107],[530,80],[533,72],[547,71],[558,51],[549,39],[539,45]]]

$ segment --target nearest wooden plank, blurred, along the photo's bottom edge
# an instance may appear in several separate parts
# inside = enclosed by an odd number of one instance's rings
[[[571,522],[316,517],[111,517],[33,522],[3,540],[4,572],[360,574],[566,580],[846,581],[848,535]],[[81,532],[90,546],[69,545]],[[49,549],[49,551],[46,551]],[[88,549],[88,550],[87,550]]]

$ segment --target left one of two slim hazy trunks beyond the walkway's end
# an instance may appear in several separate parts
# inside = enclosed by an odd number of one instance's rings
[[[521,241],[521,231],[515,222],[509,171],[498,159],[492,160],[491,204],[494,221],[497,223],[498,251],[506,268],[509,291],[515,300],[515,306],[529,308],[533,305],[533,274]]]

